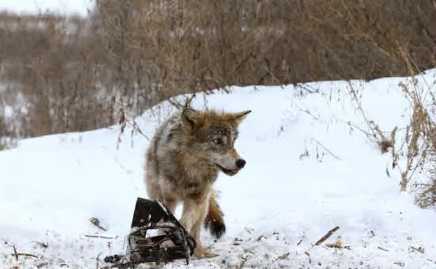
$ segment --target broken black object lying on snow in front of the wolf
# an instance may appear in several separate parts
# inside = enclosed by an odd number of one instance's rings
[[[163,229],[165,234],[147,237],[148,230],[158,228]],[[175,259],[185,259],[189,264],[189,256],[194,254],[196,247],[194,238],[160,200],[139,197],[127,241],[126,255],[107,256],[104,261],[114,265],[106,268],[134,268],[140,263],[168,263]],[[172,244],[168,244],[169,241]]]

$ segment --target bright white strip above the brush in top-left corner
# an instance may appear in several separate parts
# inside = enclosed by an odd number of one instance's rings
[[[88,10],[94,6],[94,0],[2,0],[0,10],[14,13],[37,14],[50,11],[60,14],[86,16]]]

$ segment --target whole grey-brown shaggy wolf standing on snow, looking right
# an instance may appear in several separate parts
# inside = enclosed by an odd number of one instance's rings
[[[150,140],[144,173],[147,195],[160,199],[173,215],[183,204],[180,223],[196,240],[198,259],[218,256],[203,247],[201,227],[215,238],[226,231],[213,184],[220,171],[233,176],[244,168],[246,161],[234,146],[238,127],[250,112],[184,107],[165,119]]]

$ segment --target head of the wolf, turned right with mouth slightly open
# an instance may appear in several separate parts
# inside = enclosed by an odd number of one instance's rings
[[[235,175],[245,166],[235,150],[238,126],[251,112],[182,110],[182,124],[187,132],[188,147],[198,159],[221,170],[226,175]]]

